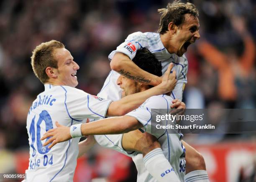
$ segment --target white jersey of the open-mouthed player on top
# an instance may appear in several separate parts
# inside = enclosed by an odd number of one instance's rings
[[[108,56],[109,60],[112,60],[116,52],[122,52],[126,54],[132,60],[136,51],[142,49],[143,47],[147,48],[162,65],[162,73],[167,70],[168,65],[173,62],[174,67],[172,71],[176,71],[177,84],[172,91],[172,96],[175,99],[182,100],[182,94],[187,83],[187,69],[188,62],[185,55],[178,57],[176,54],[170,54],[163,43],[161,42],[160,35],[154,32],[135,32],[125,39],[125,42],[120,44],[116,50],[110,53]],[[110,71],[105,83],[99,92],[98,96],[110,100],[120,100],[121,99],[121,89],[116,84],[119,74],[115,71]]]

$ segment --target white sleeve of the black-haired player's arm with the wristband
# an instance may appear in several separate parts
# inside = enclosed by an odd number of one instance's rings
[[[164,97],[153,96],[146,100],[139,108],[126,115],[135,117],[143,125],[144,132],[151,133],[151,109],[168,109],[170,105]]]

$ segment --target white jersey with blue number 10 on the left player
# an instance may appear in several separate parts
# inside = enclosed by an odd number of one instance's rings
[[[72,182],[77,165],[80,138],[43,147],[40,138],[56,128],[55,122],[70,127],[87,118],[102,119],[111,100],[90,95],[69,86],[45,85],[28,112],[29,166],[24,182]]]

